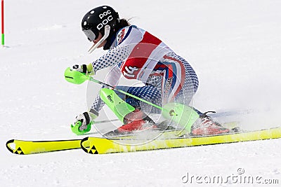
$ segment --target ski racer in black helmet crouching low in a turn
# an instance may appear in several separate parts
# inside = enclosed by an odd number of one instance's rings
[[[187,61],[176,55],[160,39],[144,29],[130,25],[125,19],[119,19],[118,13],[110,6],[99,6],[86,13],[81,27],[89,41],[93,42],[90,52],[96,48],[108,51],[90,64],[74,65],[71,68],[72,71],[94,75],[100,69],[111,67],[105,78],[105,83],[109,85],[159,106],[169,102],[190,104],[198,87],[197,75]],[[122,75],[125,78],[143,82],[143,86],[118,86]],[[101,98],[101,95],[108,96],[109,94],[114,95],[110,97],[110,99],[115,98],[113,105],[110,104],[111,100],[107,101],[108,97]],[[116,99],[124,101],[122,108],[118,108]],[[161,113],[159,109],[133,97],[115,93],[103,86],[90,111],[77,116],[72,131],[76,134],[89,132],[91,122],[94,123],[105,104],[110,106],[110,109],[124,123],[114,132],[122,134],[145,128],[157,128],[157,123],[147,114]],[[117,112],[120,110],[122,112]],[[229,132],[206,113],[200,111],[197,113],[200,118],[192,125],[190,134],[198,136]]]

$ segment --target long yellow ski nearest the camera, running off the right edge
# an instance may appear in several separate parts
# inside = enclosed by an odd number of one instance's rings
[[[201,146],[211,144],[226,144],[240,141],[254,141],[262,139],[277,139],[281,137],[281,127],[252,132],[235,132],[204,137],[179,137],[171,139],[105,139],[87,137],[81,140],[81,148],[86,153],[124,153],[133,151],[149,151],[163,148],[179,148],[187,146]]]

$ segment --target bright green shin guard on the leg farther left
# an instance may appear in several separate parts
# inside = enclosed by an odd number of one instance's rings
[[[117,118],[124,122],[124,117],[135,110],[133,106],[121,99],[114,90],[102,88],[100,99],[115,113]]]

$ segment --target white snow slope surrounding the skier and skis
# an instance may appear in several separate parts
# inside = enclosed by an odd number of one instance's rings
[[[195,178],[183,183],[186,174],[261,176],[280,185],[280,139],[110,155],[81,150],[12,155],[6,150],[8,139],[78,138],[70,123],[86,111],[90,89],[86,83],[67,83],[63,72],[104,53],[86,53],[91,45],[80,28],[84,13],[103,4],[115,7],[122,18],[133,18],[133,24],[192,64],[200,78],[197,109],[250,109],[258,113],[239,117],[243,127],[280,125],[281,1],[5,1],[1,186],[266,186],[197,183]]]

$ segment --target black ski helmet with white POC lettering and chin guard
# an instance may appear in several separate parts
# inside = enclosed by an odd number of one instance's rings
[[[81,22],[82,31],[88,37],[89,41],[98,38],[98,32],[103,36],[105,34],[105,25],[110,26],[110,35],[107,37],[107,43],[103,47],[107,50],[111,46],[112,35],[117,32],[119,25],[119,15],[110,6],[98,6],[84,15]]]

